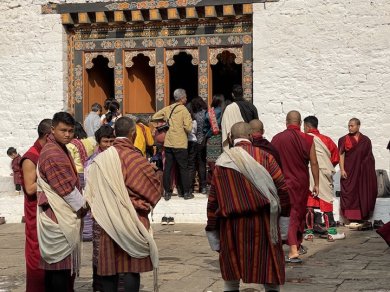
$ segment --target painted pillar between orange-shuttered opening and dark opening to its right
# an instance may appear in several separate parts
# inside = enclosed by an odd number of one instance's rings
[[[165,49],[156,48],[156,111],[165,106],[166,100],[166,70],[165,70]],[[169,103],[169,101],[168,101]]]

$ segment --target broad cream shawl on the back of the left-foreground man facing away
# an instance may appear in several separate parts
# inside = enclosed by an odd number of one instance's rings
[[[100,153],[88,168],[84,196],[97,223],[134,258],[150,256],[158,267],[156,243],[139,220],[123,180],[121,160],[115,147]]]

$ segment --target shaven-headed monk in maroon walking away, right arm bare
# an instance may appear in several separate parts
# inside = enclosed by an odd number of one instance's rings
[[[309,168],[314,178],[313,194],[318,194],[319,168],[313,136],[301,132],[301,114],[290,111],[286,117],[287,129],[271,141],[279,151],[291,202],[288,244],[290,251],[287,261],[301,262],[298,248],[302,243],[306,204],[310,194]]]

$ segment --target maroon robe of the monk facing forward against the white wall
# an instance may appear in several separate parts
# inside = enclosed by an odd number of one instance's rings
[[[348,175],[340,180],[341,213],[349,220],[368,219],[378,194],[371,140],[361,133],[358,141],[346,135],[339,139],[339,149],[344,154],[344,170]]]

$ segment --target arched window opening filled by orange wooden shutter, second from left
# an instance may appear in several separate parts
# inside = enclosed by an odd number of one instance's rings
[[[131,59],[129,59],[131,58]],[[151,114],[156,111],[155,63],[142,52],[126,57],[124,76],[126,114]]]

